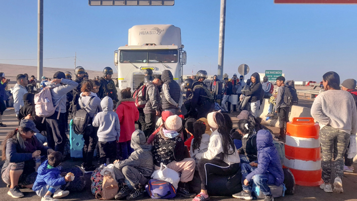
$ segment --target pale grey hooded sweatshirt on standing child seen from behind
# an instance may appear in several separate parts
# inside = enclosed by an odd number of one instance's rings
[[[120,136],[120,122],[113,111],[113,100],[106,96],[101,101],[103,112],[99,112],[93,120],[93,126],[99,127],[97,136],[99,142],[118,141]]]

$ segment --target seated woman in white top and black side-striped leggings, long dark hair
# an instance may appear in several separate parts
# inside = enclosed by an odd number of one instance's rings
[[[213,132],[210,137],[208,149],[202,154],[198,163],[198,171],[201,177],[201,192],[193,201],[205,201],[210,199],[207,192],[207,176],[209,174],[231,175],[239,170],[239,155],[235,149],[233,140],[229,136],[225,119],[220,112],[211,112],[207,120]]]

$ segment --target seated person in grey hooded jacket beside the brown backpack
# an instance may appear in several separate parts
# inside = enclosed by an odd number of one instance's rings
[[[131,148],[134,152],[124,161],[114,162],[114,174],[120,186],[122,186],[115,199],[126,197],[127,200],[135,200],[144,196],[144,185],[154,172],[154,161],[151,153],[151,145],[146,145],[144,132],[135,130],[131,136]],[[125,184],[125,179],[129,180],[134,187],[129,191]]]

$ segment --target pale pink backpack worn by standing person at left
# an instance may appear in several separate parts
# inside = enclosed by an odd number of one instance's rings
[[[56,108],[61,104],[62,99],[59,101],[59,103],[54,106],[52,102],[52,95],[51,95],[51,88],[45,87],[41,90],[40,93],[35,94],[35,112],[36,115],[39,117],[50,117],[54,114],[56,111]],[[61,112],[61,107],[59,107],[58,111],[58,116],[57,119],[59,119],[59,115]],[[45,118],[43,118],[43,121]]]

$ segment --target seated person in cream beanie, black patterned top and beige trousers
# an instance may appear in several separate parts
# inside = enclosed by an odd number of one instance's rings
[[[155,170],[160,169],[162,163],[176,172],[181,172],[177,194],[194,197],[196,194],[190,193],[187,182],[194,178],[196,162],[193,158],[185,158],[185,152],[188,150],[185,148],[181,130],[182,119],[179,116],[167,117],[164,126],[154,137],[152,154]]]

